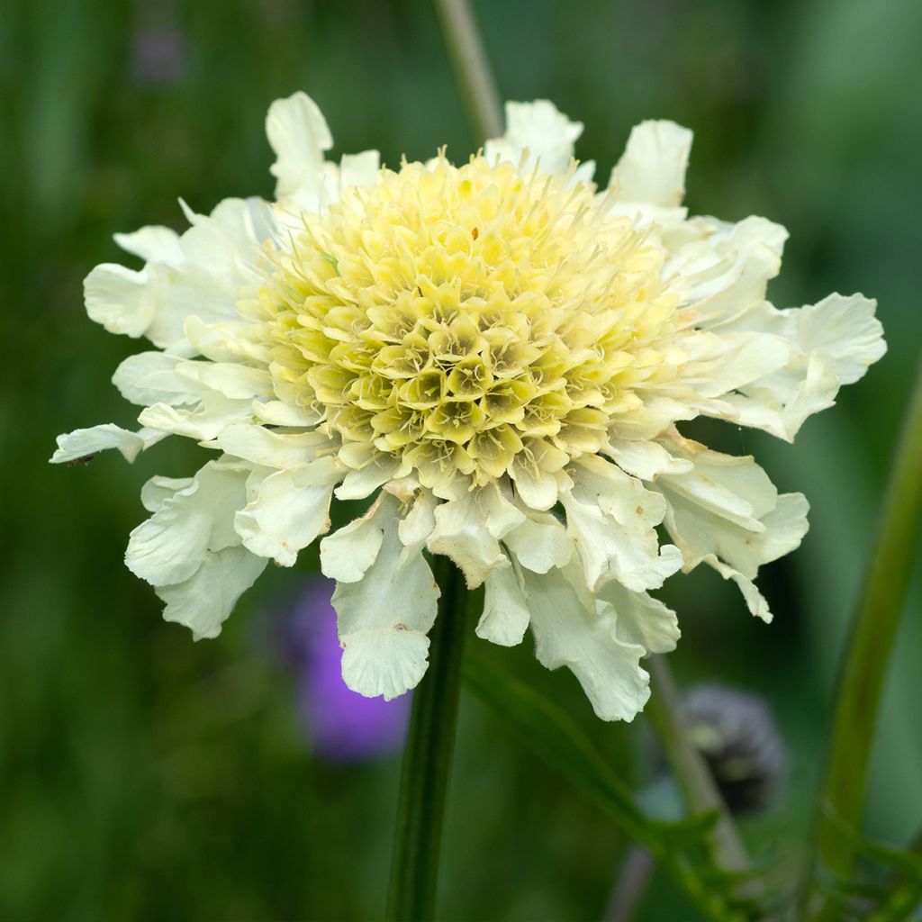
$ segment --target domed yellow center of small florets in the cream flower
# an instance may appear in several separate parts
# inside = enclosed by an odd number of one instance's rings
[[[483,157],[382,170],[274,264],[259,310],[277,390],[350,467],[386,455],[426,486],[552,472],[667,373],[660,250],[569,177]]]

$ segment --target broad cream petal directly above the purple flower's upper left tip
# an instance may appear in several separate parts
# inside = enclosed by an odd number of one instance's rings
[[[329,457],[270,474],[234,517],[243,546],[280,566],[294,566],[298,551],[329,530],[333,487],[342,476],[342,466]]]

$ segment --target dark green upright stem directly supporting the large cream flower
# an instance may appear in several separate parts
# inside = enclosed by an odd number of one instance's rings
[[[455,565],[436,557],[442,596],[430,633],[429,667],[413,692],[400,794],[387,919],[431,919],[439,871],[445,792],[455,748],[467,590]]]

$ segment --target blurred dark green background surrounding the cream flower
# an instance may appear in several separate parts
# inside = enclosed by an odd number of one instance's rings
[[[775,622],[752,621],[714,573],[666,597],[684,633],[680,680],[722,680],[771,703],[790,749],[782,798],[743,822],[758,855],[796,854],[813,804],[837,656],[873,535],[920,349],[916,0],[552,0],[475,4],[502,97],[547,97],[585,123],[578,156],[605,179],[632,124],[695,132],[692,212],[763,214],[791,231],[779,306],[830,290],[880,300],[890,352],[789,446],[727,427],[812,504],[810,534],[768,567]],[[334,155],[394,164],[472,147],[422,0],[4,0],[0,16],[0,918],[366,919],[384,904],[398,764],[315,753],[278,623],[310,578],[270,568],[219,640],[160,620],[122,565],[154,473],[186,476],[192,444],[124,464],[49,467],[54,436],[131,425],[109,378],[140,344],[86,318],[81,279],[124,258],[115,231],[183,227],[272,193],[263,119],[307,90]],[[177,440],[174,440],[177,441]],[[873,766],[868,830],[922,823],[917,579]],[[280,614],[281,613],[281,614]],[[496,650],[546,687],[632,784],[649,741],[596,721],[569,673],[529,643]],[[626,843],[466,696],[441,888],[446,919],[598,918]],[[694,918],[667,881],[638,918]]]

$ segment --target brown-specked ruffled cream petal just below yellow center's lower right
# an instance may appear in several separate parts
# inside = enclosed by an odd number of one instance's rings
[[[561,499],[589,591],[613,579],[634,592],[656,589],[680,569],[680,550],[660,548],[656,536],[666,503],[621,468],[595,455],[581,457],[573,487]]]

